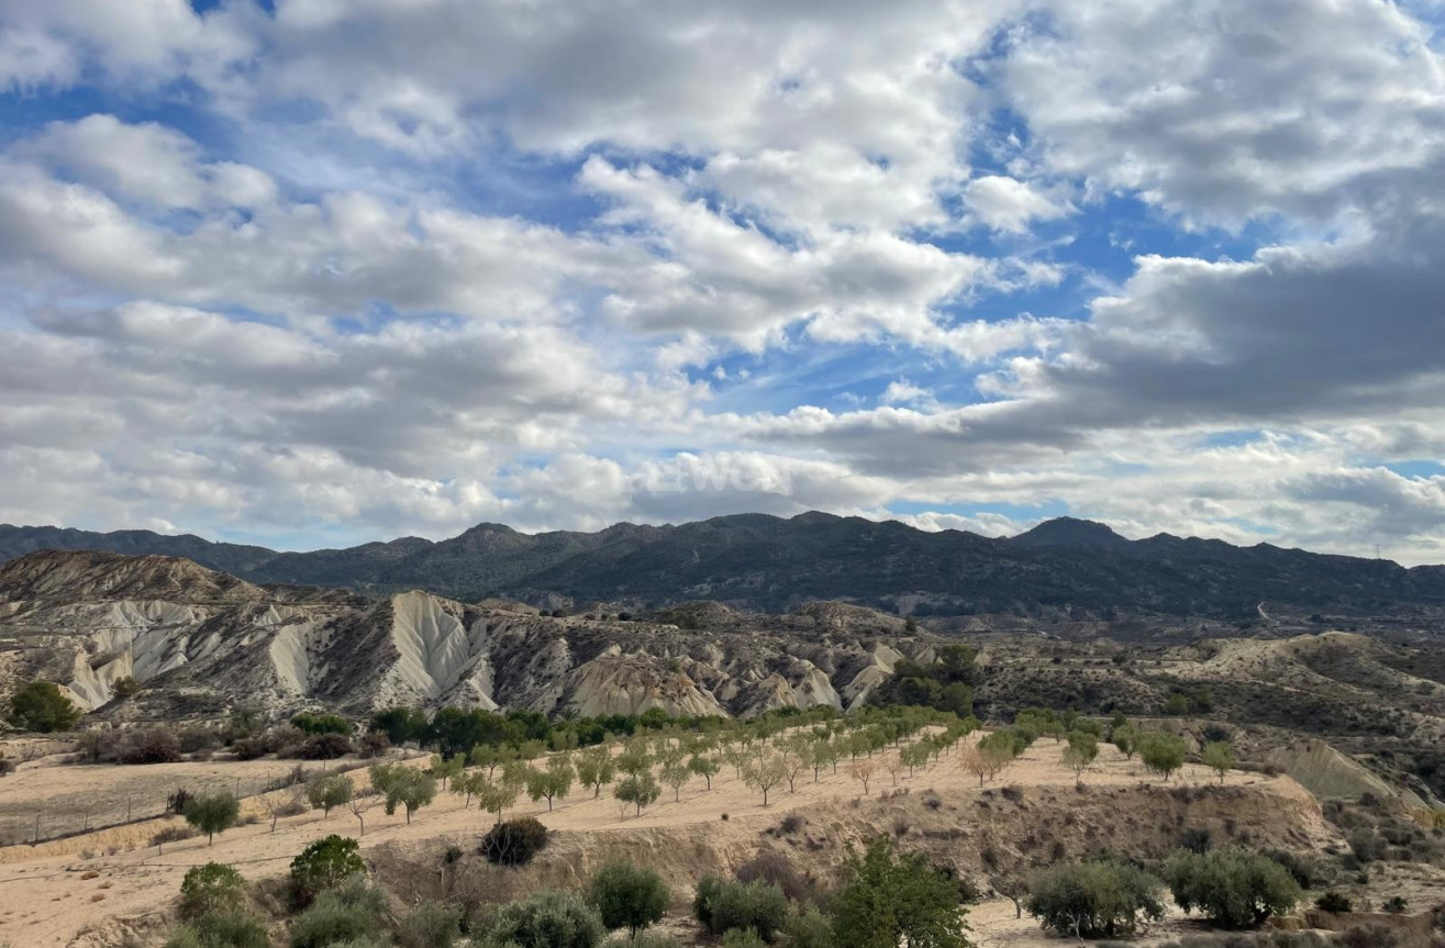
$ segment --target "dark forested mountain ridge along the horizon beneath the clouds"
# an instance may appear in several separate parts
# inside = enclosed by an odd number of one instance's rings
[[[1084,608],[1224,617],[1251,616],[1260,601],[1360,613],[1445,606],[1445,566],[1406,569],[1383,559],[1168,533],[1130,540],[1074,517],[1014,538],[931,533],[816,512],[618,523],[594,533],[529,535],[481,523],[439,542],[412,536],[302,553],[149,530],[0,525],[0,561],[36,549],[162,553],[250,582],[419,588],[464,601],[559,594],[579,603],[662,606],[709,598],[783,611],[811,600],[890,607],[907,597],[955,614]]]

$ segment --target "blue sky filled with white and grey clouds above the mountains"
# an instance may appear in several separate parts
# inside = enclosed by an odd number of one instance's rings
[[[0,0],[0,522],[1445,562],[1433,0]]]

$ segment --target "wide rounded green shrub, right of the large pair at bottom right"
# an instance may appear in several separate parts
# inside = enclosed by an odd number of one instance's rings
[[[1231,928],[1263,925],[1300,899],[1289,870],[1241,848],[1179,853],[1169,860],[1168,876],[1181,909],[1198,908],[1214,923]]]

